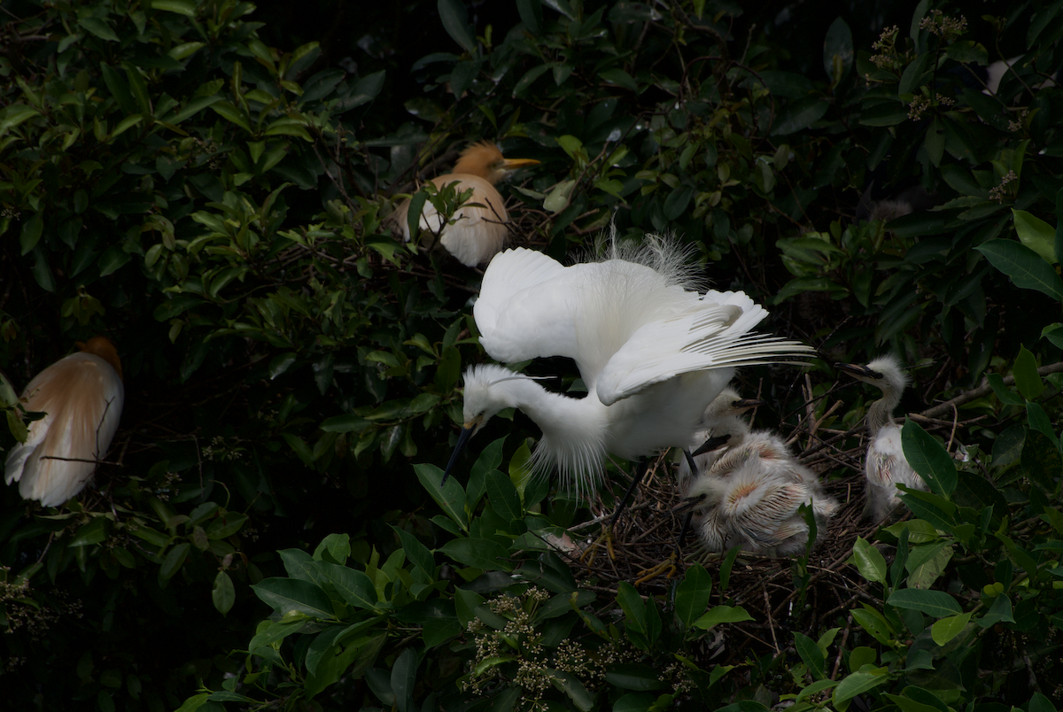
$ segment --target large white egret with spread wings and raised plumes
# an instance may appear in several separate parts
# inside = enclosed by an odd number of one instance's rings
[[[512,407],[542,429],[534,470],[556,470],[564,487],[586,493],[607,454],[631,460],[688,446],[736,367],[812,353],[753,333],[767,311],[743,292],[693,287],[686,252],[653,236],[640,248],[614,238],[604,260],[571,267],[523,248],[495,256],[473,309],[480,344],[503,362],[570,357],[587,395],[547,391],[501,366],[469,368],[465,426],[444,480],[469,438]]]

